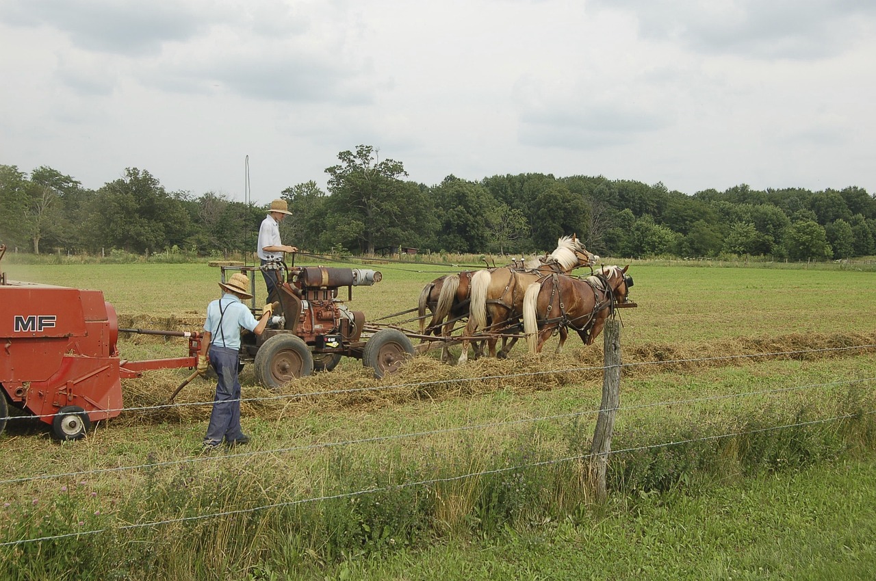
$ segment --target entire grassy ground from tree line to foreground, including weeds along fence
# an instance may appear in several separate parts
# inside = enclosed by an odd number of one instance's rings
[[[354,287],[350,303],[370,320],[412,308],[449,271],[376,267],[384,280]],[[219,293],[206,265],[4,270],[99,288],[123,325],[139,327],[200,329]],[[212,397],[200,379],[182,407],[126,412],[81,442],[53,443],[34,422],[9,426],[0,542],[89,534],[0,546],[0,573],[870,578],[874,274],[653,264],[630,273],[639,308],[621,312],[629,366],[613,441],[628,451],[612,457],[608,505],[575,485],[601,394],[599,341],[570,338],[559,356],[519,346],[508,360],[468,365],[420,357],[384,380],[345,360],[280,393],[244,370],[254,441],[220,457],[195,452]],[[138,336],[119,347],[126,358],[185,351]],[[125,380],[126,406],[165,400],[185,375]],[[107,563],[102,546],[124,555]]]

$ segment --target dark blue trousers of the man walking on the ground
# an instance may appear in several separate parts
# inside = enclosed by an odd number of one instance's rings
[[[204,443],[217,446],[223,438],[231,442],[244,435],[240,429],[240,380],[237,379],[240,354],[237,349],[210,345],[209,358],[219,382]]]

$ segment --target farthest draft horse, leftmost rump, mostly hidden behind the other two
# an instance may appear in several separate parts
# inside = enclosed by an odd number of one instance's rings
[[[540,258],[514,259],[510,268],[537,268],[540,266]],[[491,269],[487,269],[491,270]],[[428,283],[420,291],[418,301],[418,319],[420,321],[420,335],[434,334],[435,337],[449,337],[453,332],[456,322],[469,315],[471,277],[477,271],[465,270],[457,274],[445,274]],[[432,312],[432,319],[426,325],[426,311]],[[475,347],[479,351],[478,346]],[[450,360],[450,351],[447,342],[442,344],[442,361]]]

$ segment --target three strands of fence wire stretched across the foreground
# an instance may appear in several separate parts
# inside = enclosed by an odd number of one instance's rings
[[[689,359],[673,359],[673,360],[660,360],[660,361],[646,361],[646,362],[634,362],[634,363],[625,363],[620,365],[621,368],[634,368],[645,365],[673,365],[679,363],[697,363],[697,362],[707,362],[707,361],[716,361],[716,360],[760,360],[767,358],[779,358],[779,357],[799,357],[805,354],[815,354],[815,353],[824,353],[824,352],[851,352],[851,351],[859,351],[861,353],[865,353],[866,351],[870,351],[876,348],[876,344],[867,344],[867,345],[858,345],[851,347],[838,347],[838,348],[823,348],[823,349],[807,349],[807,350],[794,350],[794,351],[771,351],[771,352],[761,352],[761,353],[751,353],[745,355],[731,355],[731,356],[721,356],[721,357],[709,357],[709,358],[689,358]],[[548,374],[548,373],[557,373],[557,372],[570,372],[570,371],[597,371],[604,370],[606,367],[604,366],[586,366],[586,367],[576,367],[573,369],[552,369],[548,371],[542,372],[523,372],[523,373],[513,373],[513,374],[505,374],[505,375],[496,375],[490,376],[489,378],[478,377],[478,378],[465,378],[465,379],[441,379],[436,381],[420,381],[416,383],[401,383],[394,385],[386,385],[386,386],[369,386],[363,388],[353,388],[353,389],[339,389],[333,390],[330,392],[314,392],[314,393],[291,393],[291,394],[277,394],[273,396],[267,397],[259,397],[259,398],[246,398],[242,399],[242,401],[264,401],[264,400],[278,400],[278,399],[294,399],[294,398],[304,398],[304,397],[317,397],[321,395],[326,395],[329,393],[359,393],[363,391],[371,391],[371,390],[393,390],[400,388],[411,388],[411,387],[421,387],[421,386],[434,386],[439,384],[446,383],[459,383],[465,381],[474,381],[474,380],[484,380],[484,379],[510,379],[510,378],[519,378],[521,376],[532,376],[537,377],[539,375]],[[672,400],[659,400],[659,401],[649,401],[646,403],[641,403],[632,406],[623,406],[618,407],[615,411],[618,412],[632,412],[634,410],[648,410],[657,407],[671,407],[671,406],[697,406],[709,402],[719,401],[719,400],[742,400],[744,398],[754,398],[761,396],[769,396],[780,393],[793,393],[793,392],[802,392],[804,390],[816,390],[816,389],[827,389],[837,386],[871,386],[874,382],[876,382],[876,377],[864,377],[864,378],[855,378],[855,379],[838,379],[834,381],[827,382],[816,382],[816,383],[808,383],[802,385],[793,385],[793,386],[781,386],[781,387],[770,387],[766,389],[758,389],[758,390],[750,390],[738,393],[718,393],[718,394],[710,394],[704,395],[700,397],[692,397],[692,398],[684,398],[684,399],[672,399]],[[159,406],[152,407],[123,407],[116,411],[124,411],[124,412],[138,412],[145,411],[149,409],[160,409],[163,407],[178,407],[178,406],[192,406],[192,405],[211,405],[212,401],[202,401],[202,402],[186,402],[186,403],[173,403],[173,404],[162,404]],[[174,466],[180,466],[184,464],[201,464],[205,462],[216,462],[219,460],[226,461],[237,459],[241,462],[251,462],[253,459],[257,459],[258,457],[268,457],[268,456],[277,456],[291,453],[300,453],[307,452],[310,450],[328,450],[335,448],[345,448],[354,445],[366,444],[366,443],[392,443],[392,442],[405,442],[408,440],[414,440],[417,438],[427,438],[429,436],[442,436],[442,435],[452,435],[452,434],[462,434],[464,432],[472,432],[472,431],[485,431],[489,429],[497,429],[497,428],[507,428],[513,426],[522,426],[526,424],[536,424],[539,422],[562,422],[569,420],[576,420],[577,418],[583,418],[590,415],[599,414],[601,410],[599,409],[586,409],[582,411],[569,412],[566,414],[550,414],[550,415],[540,415],[537,417],[527,417],[521,419],[513,419],[513,420],[503,420],[500,422],[483,422],[477,424],[466,424],[460,426],[452,426],[448,428],[442,429],[427,429],[420,431],[409,431],[406,433],[400,434],[386,434],[379,436],[370,436],[364,438],[352,438],[352,439],[340,439],[332,442],[317,442],[317,443],[307,443],[296,446],[289,447],[279,447],[279,448],[271,448],[267,450],[251,450],[246,452],[237,452],[233,449],[230,450],[228,454],[224,455],[211,455],[211,456],[197,456],[197,457],[182,457],[176,458],[173,460],[167,461],[150,461],[140,464],[126,464],[121,466],[108,466],[108,467],[95,467],[88,468],[81,471],[60,471],[55,473],[45,473],[45,474],[28,474],[21,475],[15,478],[4,478],[0,479],[0,485],[24,485],[26,483],[32,483],[40,480],[63,480],[66,478],[84,478],[84,477],[93,477],[99,474],[107,474],[107,473],[122,473],[122,472],[131,472],[131,471],[148,471],[148,470],[156,470],[162,468],[172,468]],[[602,410],[605,411],[605,410]],[[864,414],[870,415],[876,413],[876,409],[865,410]],[[712,440],[720,440],[729,437],[735,436],[745,436],[749,434],[755,434],[759,432],[768,432],[772,430],[782,430],[782,429],[792,429],[792,428],[800,428],[804,426],[817,425],[817,424],[825,424],[829,422],[839,422],[848,418],[851,418],[853,414],[833,414],[829,417],[818,418],[809,421],[802,422],[788,422],[783,423],[781,425],[769,426],[767,428],[761,429],[750,429],[750,430],[732,430],[728,432],[724,432],[721,434],[713,434],[713,435],[705,435],[699,436],[696,438],[685,438],[679,440],[669,440],[661,443],[649,443],[647,445],[628,447],[625,449],[611,450],[609,454],[611,456],[616,456],[619,454],[632,453],[644,450],[655,450],[660,448],[670,448],[673,446],[681,446],[689,443],[696,442],[705,442]],[[21,419],[22,416],[12,416],[11,420]],[[24,416],[25,418],[31,419],[39,419],[39,415],[29,415]],[[128,522],[122,523],[114,527],[114,530],[134,530],[141,528],[159,528],[162,526],[170,525],[173,523],[180,523],[185,521],[202,521],[207,519],[221,518],[232,516],[236,514],[251,514],[259,511],[265,511],[272,508],[279,507],[293,507],[296,505],[303,505],[307,503],[313,502],[321,502],[327,500],[335,500],[335,499],[343,499],[343,498],[352,498],[356,496],[361,496],[364,494],[375,493],[375,492],[389,492],[392,489],[399,488],[407,488],[413,486],[434,486],[440,483],[452,482],[456,480],[462,480],[465,478],[478,478],[484,477],[491,474],[497,474],[501,472],[509,472],[509,471],[519,471],[523,469],[532,469],[538,468],[540,466],[547,466],[551,464],[562,464],[568,462],[580,462],[589,460],[592,458],[594,454],[576,454],[576,455],[564,455],[561,457],[552,457],[544,460],[529,462],[529,463],[519,463],[513,466],[506,466],[501,468],[494,468],[490,470],[483,471],[465,471],[461,474],[456,474],[449,477],[444,478],[427,478],[427,479],[413,479],[406,482],[400,482],[398,484],[389,486],[372,486],[368,488],[362,488],[357,490],[351,490],[348,492],[341,492],[337,494],[331,495],[309,495],[304,496],[303,498],[297,498],[293,500],[284,500],[273,503],[265,503],[259,505],[257,507],[245,507],[236,510],[225,510],[225,511],[214,511],[208,512],[205,514],[197,514],[190,515],[179,518],[171,518],[171,519],[157,519],[157,520],[145,520],[140,522]],[[59,535],[44,535],[44,536],[35,536],[28,538],[15,539],[6,542],[0,542],[0,547],[9,547],[12,545],[22,545],[25,543],[34,543],[34,542],[50,542],[57,541],[65,538],[71,537],[87,537],[88,535],[95,535],[98,533],[106,532],[109,528],[93,528],[88,530],[77,530],[74,532],[70,532],[67,534],[59,534]]]

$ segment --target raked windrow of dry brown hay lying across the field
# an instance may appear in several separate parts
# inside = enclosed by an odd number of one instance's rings
[[[599,343],[599,341],[597,341]],[[622,353],[628,377],[697,372],[710,367],[748,365],[752,361],[779,359],[816,360],[874,353],[874,333],[808,333],[783,337],[737,337],[696,344],[633,345]],[[864,346],[860,349],[845,349]],[[819,351],[825,350],[825,351]],[[834,351],[831,351],[834,350]],[[835,351],[840,350],[840,351]],[[548,352],[550,351],[550,352]],[[761,355],[762,354],[762,355]],[[556,355],[553,346],[539,356],[512,351],[508,359],[481,358],[465,365],[447,365],[436,358],[413,358],[398,373],[374,379],[371,370],[357,361],[335,371],[302,378],[277,391],[257,386],[250,366],[241,374],[244,417],[267,421],[304,414],[370,413],[417,401],[477,398],[487,393],[533,393],[560,386],[601,390],[603,351],[600,345],[569,343]],[[147,372],[143,378],[125,380],[124,405],[157,409],[124,412],[117,422],[201,422],[210,414],[215,382],[194,379],[176,397],[179,406],[163,406],[185,379],[185,370]],[[198,404],[198,405],[193,405]]]

